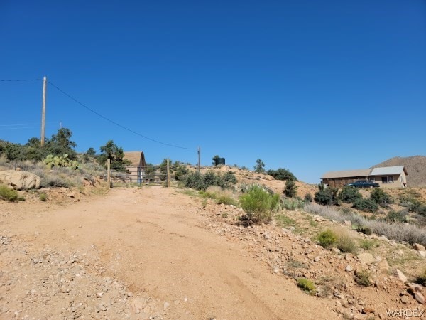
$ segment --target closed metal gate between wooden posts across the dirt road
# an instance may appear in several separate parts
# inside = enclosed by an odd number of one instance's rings
[[[111,188],[124,186],[168,186],[167,170],[157,166],[126,166],[126,171],[111,170]]]

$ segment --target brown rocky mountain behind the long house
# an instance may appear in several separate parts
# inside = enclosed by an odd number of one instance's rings
[[[426,156],[406,156],[405,158],[395,156],[372,166],[405,166],[407,169],[407,185],[409,187],[425,187],[426,186]]]

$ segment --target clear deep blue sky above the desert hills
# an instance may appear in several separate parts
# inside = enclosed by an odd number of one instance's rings
[[[41,79],[203,165],[326,171],[426,155],[426,1],[0,1],[0,80]],[[197,151],[48,84],[46,137],[148,162]],[[42,81],[0,82],[0,139],[40,137]]]

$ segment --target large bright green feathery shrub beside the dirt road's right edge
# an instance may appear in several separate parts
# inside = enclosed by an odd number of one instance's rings
[[[240,203],[249,220],[253,223],[261,223],[271,220],[273,212],[279,208],[280,196],[271,195],[264,188],[255,184],[240,197]]]

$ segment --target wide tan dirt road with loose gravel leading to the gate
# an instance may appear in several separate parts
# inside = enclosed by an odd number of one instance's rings
[[[0,203],[0,319],[338,319],[173,188]]]

